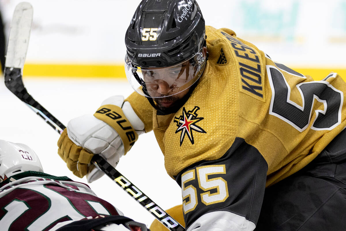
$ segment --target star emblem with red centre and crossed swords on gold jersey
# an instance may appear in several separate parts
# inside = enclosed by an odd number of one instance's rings
[[[191,111],[186,112],[185,107],[183,107],[183,115],[180,117],[175,117],[174,122],[178,127],[175,133],[181,132],[180,134],[180,146],[184,141],[185,135],[188,135],[189,140],[194,144],[192,131],[207,133],[200,126],[197,126],[196,123],[204,119],[203,117],[197,117],[197,111],[200,108],[195,106]]]

